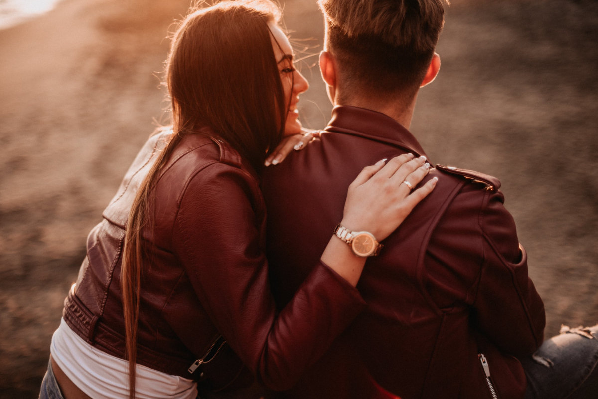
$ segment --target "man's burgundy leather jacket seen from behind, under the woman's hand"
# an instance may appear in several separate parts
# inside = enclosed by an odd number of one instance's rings
[[[267,254],[280,308],[312,272],[359,171],[405,152],[425,155],[394,119],[338,106],[321,139],[266,170]],[[367,260],[357,286],[365,311],[285,397],[490,399],[492,385],[498,398],[523,398],[516,357],[541,345],[544,305],[500,182],[438,166],[422,184],[434,176],[434,191]]]

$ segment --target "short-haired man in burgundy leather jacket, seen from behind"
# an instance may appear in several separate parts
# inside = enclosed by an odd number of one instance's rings
[[[332,119],[321,139],[268,168],[263,182],[281,307],[331,231],[343,241],[359,231],[335,229],[359,171],[406,152],[425,155],[408,127],[417,91],[440,68],[441,0],[319,4]],[[516,357],[541,345],[544,305],[501,183],[438,166],[422,184],[432,177],[439,179],[432,194],[368,259],[358,285],[367,309],[285,397],[523,398],[526,375]],[[377,249],[351,244],[356,252]]]

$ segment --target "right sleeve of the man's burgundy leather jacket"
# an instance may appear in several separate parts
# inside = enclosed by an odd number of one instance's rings
[[[498,348],[520,356],[544,340],[544,303],[527,275],[527,255],[501,192],[487,191],[480,213],[483,265],[474,308],[478,328]]]

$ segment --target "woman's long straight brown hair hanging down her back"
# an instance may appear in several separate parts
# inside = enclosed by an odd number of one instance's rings
[[[166,64],[173,133],[136,193],[127,221],[121,268],[129,398],[135,398],[137,331],[144,262],[150,262],[152,192],[182,138],[209,127],[259,172],[282,138],[286,106],[269,22],[280,10],[269,0],[223,1],[189,14]],[[144,232],[147,234],[144,234]],[[145,236],[145,237],[144,237]]]

